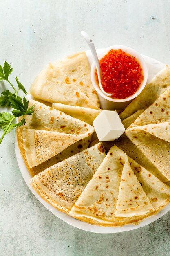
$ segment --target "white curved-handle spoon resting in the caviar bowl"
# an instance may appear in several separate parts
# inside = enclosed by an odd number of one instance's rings
[[[86,40],[86,42],[88,43],[88,46],[89,46],[89,48],[91,50],[91,53],[93,55],[93,60],[94,60],[95,65],[96,65],[100,90],[103,92],[103,94],[110,97],[110,96],[112,96],[112,94],[105,92],[103,87],[102,87],[102,84],[101,84],[102,71],[101,71],[101,68],[100,68],[99,59],[97,57],[97,52],[96,52],[96,49],[95,49],[95,45],[94,45],[93,41],[91,40],[90,36],[86,32],[82,31],[81,34],[84,37],[84,39]]]

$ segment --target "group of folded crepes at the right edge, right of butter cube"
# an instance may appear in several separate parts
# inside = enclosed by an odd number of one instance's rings
[[[115,144],[161,181],[168,182],[170,67],[161,70],[120,117],[127,129]]]

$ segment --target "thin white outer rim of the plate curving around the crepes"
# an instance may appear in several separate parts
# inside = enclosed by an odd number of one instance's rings
[[[97,51],[100,51],[100,49],[97,49]],[[86,55],[88,58],[90,58],[89,51],[86,51]],[[148,56],[145,56],[145,55],[142,55],[142,56],[144,58],[152,61],[152,63],[153,63],[152,65],[158,64],[160,66],[162,65],[162,67],[163,67],[163,65],[165,66],[165,64],[161,63],[160,61],[157,61],[157,60],[150,58]],[[91,65],[90,61],[89,61],[89,63]],[[31,185],[30,185],[31,175],[30,175],[29,171],[27,170],[24,160],[22,159],[22,156],[20,154],[20,149],[18,147],[18,140],[17,140],[17,131],[15,131],[15,155],[16,155],[16,159],[18,162],[18,166],[19,166],[21,175],[22,175],[26,185],[29,187],[29,189],[35,195],[35,197],[38,199],[38,201],[40,203],[42,203],[43,206],[46,207],[46,209],[48,209],[49,211],[51,211],[51,213],[53,213],[55,216],[57,216],[58,218],[60,218],[64,222],[66,222],[67,224],[69,224],[73,227],[76,227],[78,229],[81,229],[84,231],[89,231],[92,233],[100,233],[100,234],[121,233],[121,232],[125,232],[125,231],[131,231],[134,229],[138,229],[140,227],[144,227],[144,226],[154,222],[155,220],[158,220],[159,218],[164,216],[166,213],[168,213],[168,211],[170,211],[170,204],[168,204],[161,211],[159,211],[155,215],[150,216],[149,218],[146,218],[146,220],[140,222],[139,224],[136,224],[136,225],[128,224],[128,225],[124,225],[122,227],[102,227],[102,226],[92,225],[92,224],[83,222],[83,221],[75,219],[72,216],[69,216],[68,214],[66,214],[62,211],[59,211],[57,208],[53,207],[51,204],[49,204],[43,198],[41,198],[40,195],[31,187]]]

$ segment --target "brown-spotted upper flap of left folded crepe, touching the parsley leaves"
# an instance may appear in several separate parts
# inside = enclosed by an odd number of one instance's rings
[[[23,126],[24,128],[69,134],[85,134],[84,137],[94,132],[94,128],[91,125],[38,101],[30,100],[29,108],[34,104],[33,115],[25,115],[26,124]]]

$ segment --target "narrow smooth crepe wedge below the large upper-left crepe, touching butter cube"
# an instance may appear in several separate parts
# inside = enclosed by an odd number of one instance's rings
[[[90,125],[93,125],[94,119],[102,111],[102,110],[97,110],[93,108],[69,106],[61,103],[53,103],[53,108],[60,110],[66,113],[67,115],[80,119]]]

